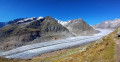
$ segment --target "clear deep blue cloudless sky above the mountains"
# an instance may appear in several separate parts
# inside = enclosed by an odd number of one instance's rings
[[[82,18],[93,25],[120,18],[120,0],[0,0],[0,22],[39,16]]]

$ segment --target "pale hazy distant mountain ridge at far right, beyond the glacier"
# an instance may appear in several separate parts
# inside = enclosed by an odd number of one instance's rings
[[[99,24],[93,25],[93,27],[102,29],[116,29],[120,27],[120,19],[103,21]]]

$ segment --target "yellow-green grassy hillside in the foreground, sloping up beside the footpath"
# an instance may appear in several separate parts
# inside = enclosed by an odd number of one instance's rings
[[[64,49],[20,62],[115,62],[116,31],[89,45]]]

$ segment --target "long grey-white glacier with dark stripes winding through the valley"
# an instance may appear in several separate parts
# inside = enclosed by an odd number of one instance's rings
[[[100,39],[105,35],[108,35],[113,31],[113,30],[103,30],[103,29],[97,29],[97,30],[99,30],[100,33],[95,34],[93,36],[70,37],[62,40],[55,40],[55,41],[48,41],[48,42],[26,45],[26,46],[22,46],[6,52],[0,52],[0,56],[6,57],[6,58],[29,59],[46,52],[73,47],[76,45],[89,44],[97,39]]]

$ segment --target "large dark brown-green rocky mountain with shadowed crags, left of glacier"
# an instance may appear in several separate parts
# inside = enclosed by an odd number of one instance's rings
[[[72,36],[67,28],[54,18],[20,19],[0,29],[0,50]]]

